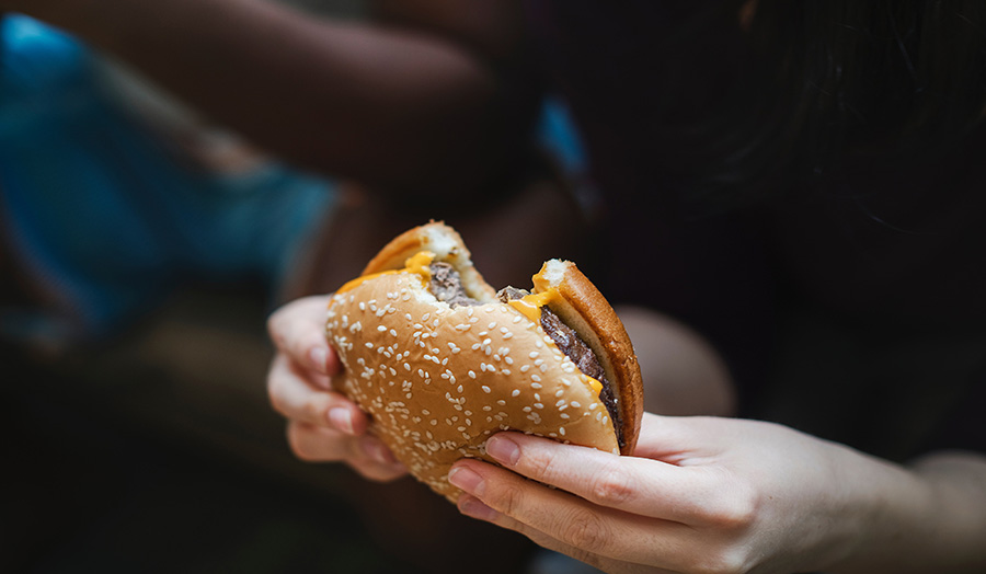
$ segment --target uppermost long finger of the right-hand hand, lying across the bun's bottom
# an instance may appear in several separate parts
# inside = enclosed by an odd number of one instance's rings
[[[704,516],[708,493],[721,482],[703,467],[621,457],[520,433],[494,435],[486,454],[514,472],[599,506],[685,524]]]

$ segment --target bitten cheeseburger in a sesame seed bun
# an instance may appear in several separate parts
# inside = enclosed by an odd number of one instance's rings
[[[343,368],[333,387],[370,415],[420,481],[450,501],[448,470],[492,461],[484,444],[518,431],[614,454],[637,444],[640,368],[616,312],[574,263],[551,260],[530,290],[496,291],[452,228],[391,240],[328,308]]]

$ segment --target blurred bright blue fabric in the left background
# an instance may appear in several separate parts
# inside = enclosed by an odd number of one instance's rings
[[[272,286],[334,200],[331,182],[268,163],[236,176],[182,163],[106,93],[96,56],[21,15],[0,24],[5,240],[101,336],[187,277]],[[0,315],[5,334],[32,326]]]

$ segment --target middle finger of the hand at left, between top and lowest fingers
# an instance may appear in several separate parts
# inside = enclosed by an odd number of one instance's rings
[[[278,354],[267,375],[267,393],[278,413],[291,421],[332,426],[348,435],[362,435],[369,421],[356,403],[332,391],[313,389],[288,360]]]

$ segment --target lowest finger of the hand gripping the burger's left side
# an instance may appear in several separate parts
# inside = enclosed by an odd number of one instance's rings
[[[352,437],[331,428],[288,423],[288,445],[301,460],[346,462],[368,479],[383,481],[408,471],[383,443],[372,436]]]

